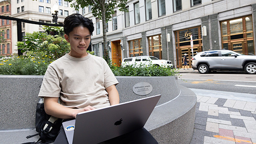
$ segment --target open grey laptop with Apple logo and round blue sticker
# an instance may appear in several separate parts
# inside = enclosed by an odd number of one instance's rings
[[[161,95],[85,111],[62,123],[69,144],[97,144],[144,127]]]

